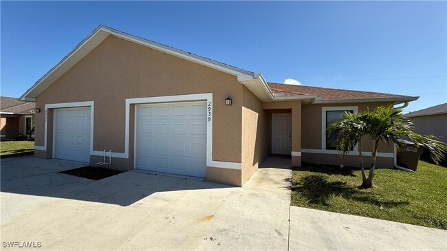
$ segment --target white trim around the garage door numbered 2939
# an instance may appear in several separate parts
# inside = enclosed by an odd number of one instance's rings
[[[125,141],[125,151],[124,155],[129,155],[129,121],[130,121],[130,108],[131,105],[138,104],[150,104],[150,103],[159,103],[159,102],[187,102],[187,101],[200,101],[206,100],[207,102],[207,110],[210,109],[210,113],[207,115],[207,123],[206,123],[206,166],[217,167],[217,168],[229,168],[229,169],[237,169],[241,170],[241,163],[237,162],[221,162],[212,160],[212,93],[208,94],[187,94],[187,95],[177,95],[177,96],[160,96],[160,97],[151,97],[151,98],[127,98],[126,99],[126,141]],[[222,100],[223,102],[223,100]],[[135,112],[134,112],[134,116]],[[133,133],[135,142],[135,130]],[[134,146],[135,151],[135,146]],[[134,154],[135,159],[135,154]],[[135,169],[135,160],[133,161],[133,168]]]

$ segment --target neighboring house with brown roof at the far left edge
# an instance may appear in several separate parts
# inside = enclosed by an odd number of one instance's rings
[[[20,101],[19,98],[0,97],[0,139],[15,140],[26,135],[32,126],[34,102]]]

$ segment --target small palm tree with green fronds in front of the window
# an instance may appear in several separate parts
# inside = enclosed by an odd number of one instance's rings
[[[401,109],[393,109],[392,105],[377,107],[374,111],[362,111],[357,114],[345,112],[342,120],[329,127],[329,135],[336,130],[338,130],[337,149],[342,155],[352,151],[353,146],[358,144],[360,168],[363,165],[361,138],[364,135],[369,135],[373,141],[371,166],[367,178],[362,171],[362,187],[364,188],[373,186],[375,161],[380,141],[388,146],[394,144],[398,149],[402,149],[404,143],[401,140],[408,138],[415,143],[416,147],[424,146],[436,164],[439,163],[439,160],[444,157],[444,153],[447,151],[446,144],[437,140],[435,136],[419,135],[413,132],[413,123],[404,118]]]

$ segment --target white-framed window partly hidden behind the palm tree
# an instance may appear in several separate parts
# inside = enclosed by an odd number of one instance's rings
[[[321,149],[336,150],[337,149],[337,131],[327,135],[326,129],[333,123],[340,121],[343,113],[349,111],[358,113],[358,107],[322,107],[321,109]],[[356,149],[353,149],[356,150]]]

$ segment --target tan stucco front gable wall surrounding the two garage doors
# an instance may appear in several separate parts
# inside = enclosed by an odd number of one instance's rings
[[[44,111],[45,104],[94,101],[94,150],[124,153],[126,98],[202,93],[213,94],[212,159],[241,163],[243,91],[237,77],[115,36],[107,37],[43,91],[36,98],[36,107]],[[228,97],[231,106],[224,104]],[[131,110],[129,159],[111,167],[133,168],[133,106]],[[52,149],[50,112],[47,157]],[[36,146],[43,146],[45,112],[36,113],[35,119]]]

